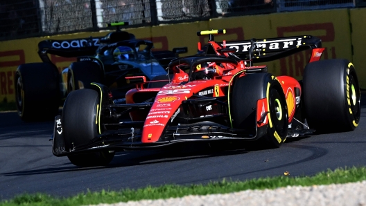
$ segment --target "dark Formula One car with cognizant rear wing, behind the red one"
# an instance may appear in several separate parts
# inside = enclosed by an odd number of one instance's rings
[[[187,48],[153,51],[153,42],[135,39],[119,30],[105,37],[87,39],[44,40],[38,44],[41,63],[21,64],[15,75],[15,100],[19,117],[24,121],[46,120],[58,114],[58,108],[74,90],[89,88],[91,82],[108,86],[119,103],[134,88],[129,76],[145,76],[147,80],[168,79],[164,68]],[[77,57],[77,62],[61,73],[49,55]],[[162,86],[157,82],[150,86]]]

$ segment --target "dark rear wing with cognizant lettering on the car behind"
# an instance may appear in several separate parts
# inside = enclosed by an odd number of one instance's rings
[[[82,39],[44,40],[38,43],[38,55],[42,62],[50,62],[49,56],[79,57],[95,55],[103,37],[90,37]]]

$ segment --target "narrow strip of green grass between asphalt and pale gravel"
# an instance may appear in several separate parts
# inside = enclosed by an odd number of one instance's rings
[[[288,185],[329,185],[332,183],[358,182],[366,180],[366,167],[351,167],[324,171],[315,176],[278,176],[275,178],[258,178],[243,182],[223,180],[210,182],[207,185],[164,185],[145,187],[143,189],[123,189],[121,191],[98,191],[78,194],[69,198],[55,198],[47,194],[22,194],[0,205],[90,205],[98,203],[118,203],[128,200],[175,198],[190,194],[224,194],[245,189],[275,189]]]

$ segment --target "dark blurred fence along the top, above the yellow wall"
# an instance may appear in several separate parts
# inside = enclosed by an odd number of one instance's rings
[[[365,7],[366,0],[1,0],[0,41],[215,17]]]

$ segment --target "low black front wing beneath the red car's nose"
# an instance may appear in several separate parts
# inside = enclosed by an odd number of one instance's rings
[[[241,129],[232,129],[215,122],[198,122],[193,124],[177,124],[167,127],[166,132],[157,142],[142,143],[141,129],[129,127],[132,124],[143,126],[143,122],[125,122],[126,128],[116,131],[105,131],[98,135],[89,144],[83,147],[65,150],[64,135],[62,133],[61,116],[55,118],[53,131],[52,152],[55,156],[68,156],[77,153],[92,153],[96,151],[123,151],[125,149],[157,149],[169,147],[182,142],[212,142],[212,141],[232,141],[256,140],[267,131],[267,125],[256,127],[256,134],[247,133]],[[123,122],[120,122],[123,124]],[[127,128],[128,127],[128,128]]]

